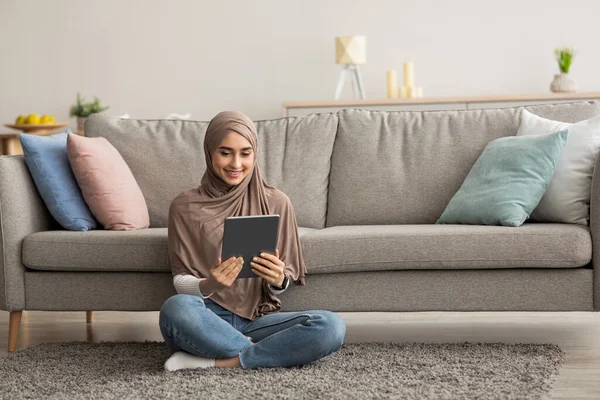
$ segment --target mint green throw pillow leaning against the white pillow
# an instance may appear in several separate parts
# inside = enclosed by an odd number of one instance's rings
[[[568,131],[487,144],[437,224],[521,226],[550,185]]]

